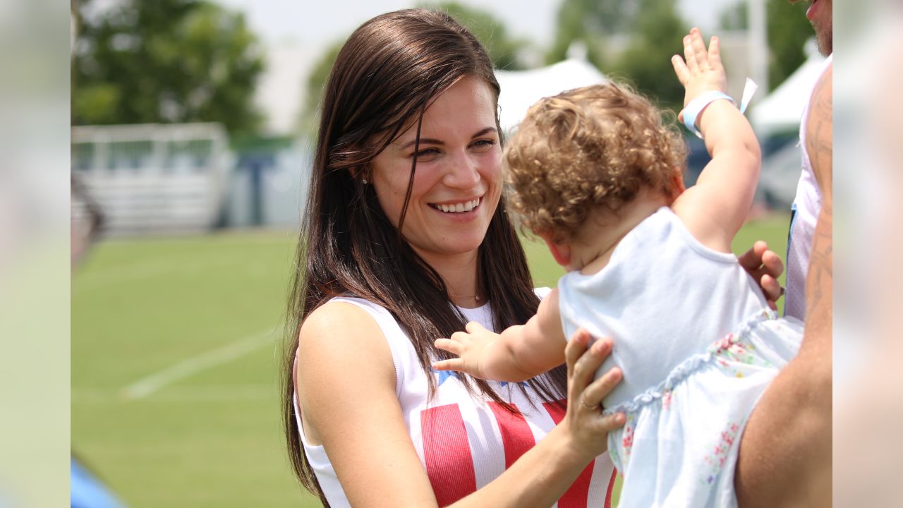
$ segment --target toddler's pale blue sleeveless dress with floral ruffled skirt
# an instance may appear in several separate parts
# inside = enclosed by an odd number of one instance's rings
[[[735,506],[740,434],[802,324],[778,318],[732,254],[696,240],[663,207],[598,273],[558,282],[565,336],[610,336],[623,381],[603,400],[627,424],[609,436],[622,507]]]

